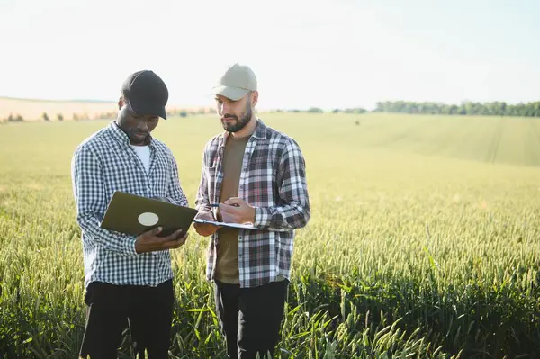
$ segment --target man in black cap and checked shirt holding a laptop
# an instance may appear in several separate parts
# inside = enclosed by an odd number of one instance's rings
[[[76,220],[82,229],[85,263],[85,336],[80,356],[117,357],[121,333],[130,328],[135,350],[167,358],[175,293],[169,249],[187,238],[181,230],[139,237],[101,229],[115,191],[187,206],[175,157],[150,136],[166,119],[168,91],[154,72],[128,77],[121,88],[116,121],[85,139],[72,159]]]

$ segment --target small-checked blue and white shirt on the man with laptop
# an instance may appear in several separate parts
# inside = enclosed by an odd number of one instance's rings
[[[165,197],[187,206],[172,152],[157,139],[149,137],[148,142],[148,174],[115,121],[76,148],[72,183],[82,229],[85,286],[93,281],[156,286],[173,277],[168,250],[137,254],[136,237],[99,227],[115,191]]]

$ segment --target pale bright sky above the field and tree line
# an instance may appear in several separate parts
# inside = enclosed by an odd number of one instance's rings
[[[115,101],[147,68],[213,104],[234,63],[259,109],[540,100],[537,0],[0,0],[0,96]]]

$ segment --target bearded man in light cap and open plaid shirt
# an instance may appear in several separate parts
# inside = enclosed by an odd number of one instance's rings
[[[257,230],[194,228],[211,236],[206,275],[229,357],[265,357],[279,340],[294,229],[310,219],[305,161],[294,139],[257,118],[257,77],[249,67],[229,67],[213,93],[225,131],[204,148],[197,218]]]

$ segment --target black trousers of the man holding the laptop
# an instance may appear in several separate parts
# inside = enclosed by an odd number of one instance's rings
[[[144,358],[147,350],[149,359],[168,358],[174,300],[172,280],[157,287],[90,283],[80,356],[116,359],[121,333],[130,328],[136,355]]]

